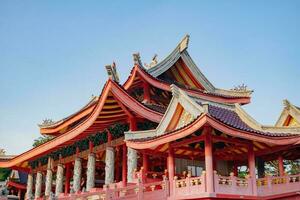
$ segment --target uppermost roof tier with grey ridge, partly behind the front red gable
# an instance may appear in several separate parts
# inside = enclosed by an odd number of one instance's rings
[[[194,94],[196,96],[201,95],[203,98],[207,100],[212,99],[212,101],[215,100],[215,101],[224,101],[227,103],[231,102],[231,103],[240,103],[240,104],[245,104],[250,102],[250,96],[252,91],[247,90],[246,87],[244,88],[236,87],[235,89],[232,90],[224,90],[224,89],[219,89],[214,87],[212,83],[210,83],[209,80],[203,75],[203,73],[199,70],[199,68],[196,66],[196,64],[190,57],[187,51],[188,44],[189,44],[189,36],[186,35],[182,39],[182,41],[176,46],[176,48],[165,59],[163,59],[159,63],[156,63],[148,67],[143,66],[141,61],[138,60],[139,58],[137,58],[136,65],[131,70],[131,73],[127,81],[123,85],[124,88],[126,90],[129,89],[129,87],[133,82],[133,80],[130,79],[131,78],[134,79],[136,73],[139,73],[139,75],[142,76],[148,75],[149,78],[152,78],[153,80],[157,81],[155,87],[158,87],[163,90],[170,90],[170,85],[176,84],[178,87],[186,90],[188,93]],[[187,73],[186,76],[192,76],[190,77],[190,79],[195,79],[195,81],[198,82],[198,85],[195,83],[196,84],[195,87],[192,87],[190,85],[174,82],[174,80],[170,80],[170,79],[163,79],[161,77],[162,74],[167,72],[170,68],[174,67],[174,64],[178,62],[182,62],[182,68],[184,68],[184,71],[191,72],[191,73]],[[178,66],[176,67],[178,69]],[[183,72],[182,71],[180,72],[179,70],[178,73],[180,74]],[[43,124],[39,124],[41,134],[58,136],[60,134],[65,133],[68,127],[70,126],[73,127],[76,126],[77,124],[80,124],[81,121],[83,121],[84,118],[87,117],[92,112],[92,110],[96,105],[97,100],[98,97],[94,96],[90,100],[90,102],[88,102],[79,111],[56,122],[53,122],[51,120],[45,120]],[[163,113],[165,110],[165,108],[158,107],[158,105],[155,104],[148,103],[146,106],[154,110],[157,110],[158,112],[161,113]]]

